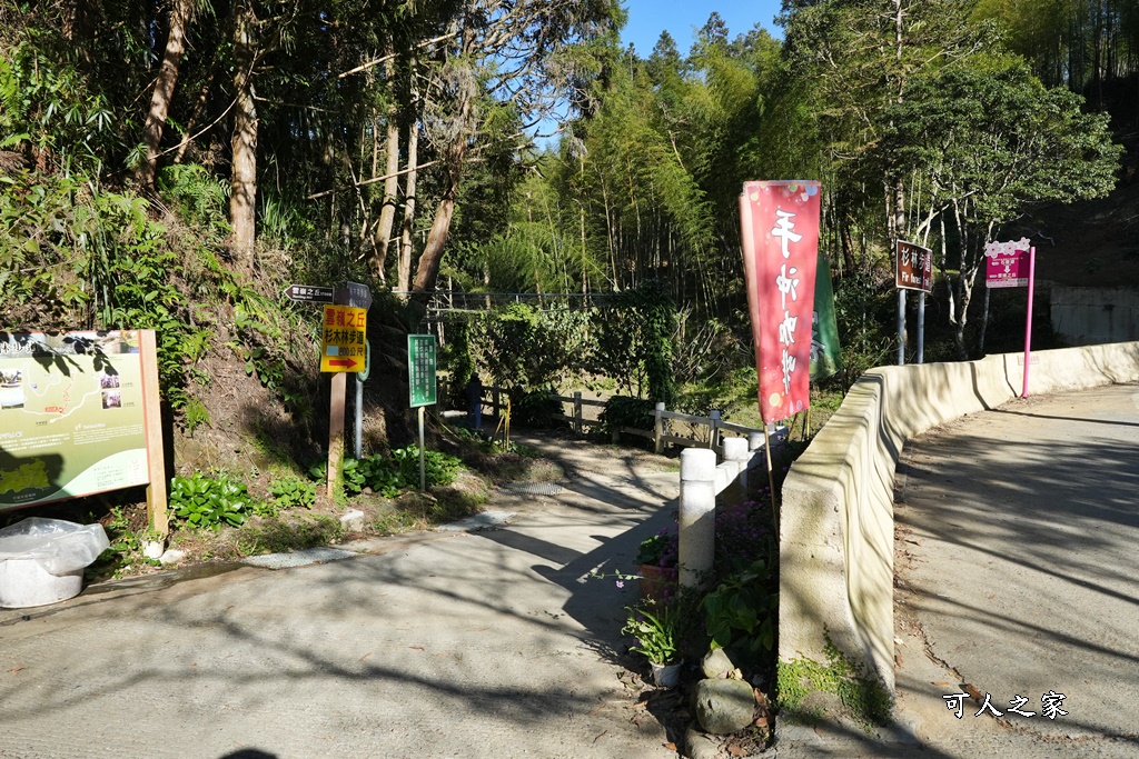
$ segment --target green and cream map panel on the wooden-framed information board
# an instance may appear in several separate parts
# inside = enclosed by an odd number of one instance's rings
[[[139,333],[0,332],[0,510],[148,481]]]

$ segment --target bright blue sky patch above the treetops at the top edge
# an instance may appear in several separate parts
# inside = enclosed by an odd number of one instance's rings
[[[663,30],[677,41],[680,55],[688,55],[693,36],[707,23],[713,10],[728,25],[729,39],[747,32],[756,23],[773,36],[782,36],[782,31],[772,20],[779,13],[780,0],[625,0],[623,5],[629,11],[629,23],[621,39],[625,44],[637,46],[637,53],[642,58],[653,52]]]

